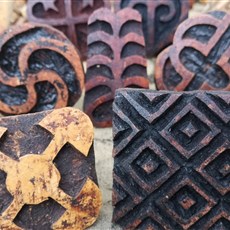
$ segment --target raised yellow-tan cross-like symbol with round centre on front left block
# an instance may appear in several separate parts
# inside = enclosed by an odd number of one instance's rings
[[[64,214],[52,225],[53,229],[84,229],[93,224],[101,207],[101,193],[89,178],[76,198],[59,188],[61,179],[53,164],[54,158],[68,142],[87,157],[93,142],[93,126],[79,110],[65,108],[48,114],[39,126],[52,133],[53,139],[40,154],[27,154],[15,161],[0,152],[0,170],[7,173],[6,187],[13,196],[9,207],[0,215],[3,229],[21,229],[13,220],[24,204],[37,205],[52,198],[65,208]],[[0,127],[0,136],[7,131]]]

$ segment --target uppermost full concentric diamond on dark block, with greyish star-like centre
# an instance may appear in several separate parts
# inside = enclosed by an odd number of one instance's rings
[[[188,104],[160,134],[186,158],[196,154],[220,132],[197,108]]]

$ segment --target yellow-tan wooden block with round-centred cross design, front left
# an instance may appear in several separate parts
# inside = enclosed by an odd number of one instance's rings
[[[0,119],[1,229],[84,229],[101,207],[93,126],[64,108]]]

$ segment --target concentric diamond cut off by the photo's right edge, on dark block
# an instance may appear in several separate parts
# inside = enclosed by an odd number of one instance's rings
[[[226,143],[229,145],[228,143]],[[230,191],[230,149],[220,147],[197,169],[222,195]]]

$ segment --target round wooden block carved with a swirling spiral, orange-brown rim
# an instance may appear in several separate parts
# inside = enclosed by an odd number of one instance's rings
[[[24,24],[0,35],[0,112],[21,114],[71,106],[83,86],[80,56],[60,31]]]

